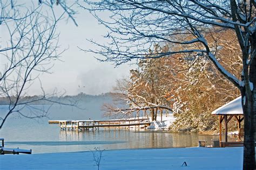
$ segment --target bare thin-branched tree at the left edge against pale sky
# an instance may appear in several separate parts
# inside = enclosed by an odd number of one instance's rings
[[[57,4],[64,9],[58,15],[53,10],[53,1],[39,1],[37,5],[32,1],[23,4],[7,0],[0,2],[0,97],[8,101],[9,105],[8,111],[0,115],[0,130],[14,112],[27,118],[48,116],[49,107],[33,107],[37,101],[60,103],[53,96],[63,94],[57,90],[46,94],[39,79],[39,75],[50,72],[53,61],[59,60],[60,54],[64,52],[58,51],[57,24],[66,15],[72,18],[75,13],[65,2],[57,1]],[[41,84],[41,95],[21,100],[28,95],[35,81]],[[25,107],[31,112],[24,113]]]

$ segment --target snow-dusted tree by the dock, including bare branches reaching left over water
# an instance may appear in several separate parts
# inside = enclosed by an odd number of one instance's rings
[[[167,51],[167,47],[161,48],[158,44],[154,45],[149,53],[158,53]],[[130,80],[118,80],[113,90],[113,98],[117,101],[126,101],[129,108],[117,109],[111,105],[104,105],[103,110],[109,113],[118,113],[127,116],[124,111],[141,111],[149,109],[151,111],[152,121],[157,120],[158,110],[163,114],[163,109],[171,110],[170,102],[166,100],[165,95],[169,91],[170,67],[166,61],[168,58],[152,59],[145,55],[144,60],[138,61],[138,68],[130,70]],[[123,111],[123,112],[121,112]],[[112,114],[117,115],[117,114]],[[128,114],[129,115],[129,114]]]

